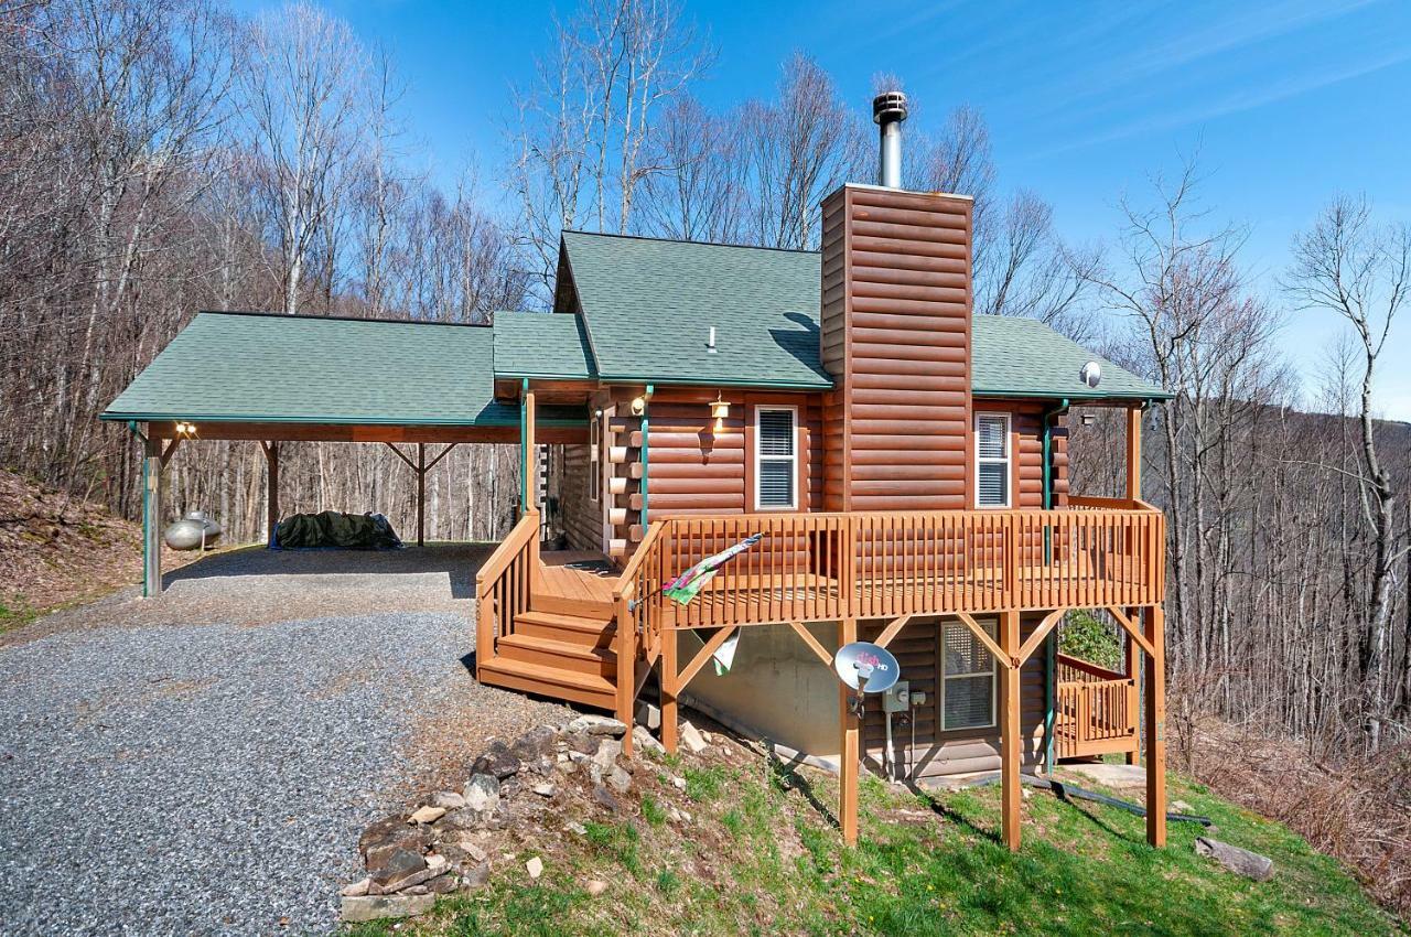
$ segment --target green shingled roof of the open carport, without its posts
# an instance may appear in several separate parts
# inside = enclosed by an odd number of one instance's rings
[[[518,426],[519,408],[495,399],[485,326],[200,312],[103,419]]]

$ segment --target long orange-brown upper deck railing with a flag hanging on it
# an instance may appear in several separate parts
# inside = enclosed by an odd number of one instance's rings
[[[1123,507],[1108,507],[1120,504]],[[689,605],[660,584],[752,533]],[[1149,605],[1164,597],[1165,519],[1143,502],[1060,511],[742,514],[665,518],[632,559],[652,628],[907,614]]]

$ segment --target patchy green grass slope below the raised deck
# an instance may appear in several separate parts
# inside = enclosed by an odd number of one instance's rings
[[[1047,792],[1024,802],[1024,847],[1012,855],[996,841],[998,786],[931,797],[865,779],[862,841],[848,850],[828,813],[831,778],[763,761],[683,773],[687,792],[670,804],[658,794],[628,820],[586,823],[587,835],[538,834],[514,862],[498,861],[487,888],[442,899],[395,933],[1407,933],[1333,859],[1175,776],[1173,800],[1213,818],[1212,835],[1271,857],[1273,881],[1195,855],[1194,824],[1173,823],[1170,847],[1154,851],[1140,817]],[[694,823],[672,823],[672,806]],[[531,855],[546,861],[538,883],[523,871]],[[607,893],[588,896],[591,879],[608,882]]]

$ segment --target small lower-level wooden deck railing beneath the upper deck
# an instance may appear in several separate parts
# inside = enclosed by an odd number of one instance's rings
[[[1136,677],[1058,655],[1054,752],[1081,758],[1137,749]]]

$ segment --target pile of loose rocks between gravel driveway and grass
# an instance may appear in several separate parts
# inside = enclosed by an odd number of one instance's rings
[[[617,797],[632,789],[631,766],[619,761],[625,732],[618,720],[580,715],[563,727],[540,725],[514,744],[492,741],[461,790],[435,792],[409,813],[363,831],[367,876],[343,888],[343,920],[420,914],[437,895],[480,888],[490,878],[495,833],[542,821],[570,780],[587,783],[600,807],[619,810]],[[543,862],[531,859],[528,871],[539,878]]]

